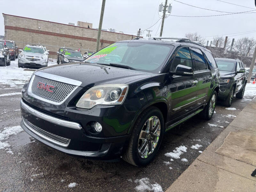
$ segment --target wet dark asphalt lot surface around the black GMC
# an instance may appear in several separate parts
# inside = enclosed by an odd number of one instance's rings
[[[15,66],[13,69],[16,70]],[[0,82],[0,135],[4,128],[20,124],[21,87],[22,82],[16,86]],[[234,97],[229,109],[218,103],[210,121],[195,116],[173,128],[165,134],[156,159],[146,167],[135,167],[123,160],[103,162],[69,156],[34,140],[24,131],[10,135],[2,140],[10,147],[0,149],[0,191],[164,191],[252,98],[250,91],[245,92],[243,99]],[[202,147],[191,148],[196,144]],[[164,155],[179,146],[187,148],[180,159],[171,161]],[[187,162],[181,161],[184,158]],[[74,182],[76,186],[69,188]]]

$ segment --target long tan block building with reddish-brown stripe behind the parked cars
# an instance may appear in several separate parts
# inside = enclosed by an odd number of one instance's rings
[[[43,44],[50,50],[50,57],[55,58],[61,46],[81,48],[94,51],[98,30],[84,28],[52,21],[38,20],[15,15],[4,14],[4,35],[13,40],[22,49],[26,44]],[[133,39],[135,36],[101,31],[100,49],[108,44],[121,40]]]

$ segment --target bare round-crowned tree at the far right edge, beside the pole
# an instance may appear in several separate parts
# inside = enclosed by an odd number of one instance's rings
[[[238,51],[238,56],[243,62],[250,60],[248,57],[252,56],[255,45],[256,41],[253,37],[243,37],[236,40],[235,49]]]

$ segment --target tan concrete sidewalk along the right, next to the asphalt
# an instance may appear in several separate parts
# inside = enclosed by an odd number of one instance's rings
[[[239,137],[230,140],[234,138],[232,135]],[[256,191],[256,176],[251,176],[256,168],[254,146],[256,98],[251,100],[166,192]]]

